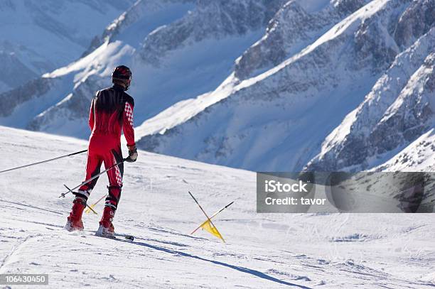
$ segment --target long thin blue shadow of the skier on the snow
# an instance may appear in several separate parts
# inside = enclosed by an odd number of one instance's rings
[[[280,280],[278,278],[274,278],[272,276],[269,276],[269,275],[267,275],[265,273],[262,273],[260,271],[254,270],[254,269],[249,269],[249,268],[245,268],[245,267],[235,266],[235,265],[231,265],[231,264],[228,264],[228,263],[223,263],[223,262],[220,262],[220,261],[213,261],[213,260],[206,259],[206,258],[203,258],[203,257],[200,257],[200,256],[191,255],[189,253],[184,253],[184,252],[181,252],[181,251],[166,249],[166,248],[163,248],[163,247],[146,244],[146,243],[139,242],[139,241],[133,241],[133,242],[129,242],[129,243],[136,244],[136,245],[139,245],[139,246],[148,247],[148,248],[151,248],[151,249],[154,249],[154,250],[158,250],[158,251],[163,251],[163,252],[166,252],[166,253],[178,254],[178,255],[184,256],[184,257],[190,257],[190,258],[195,258],[195,259],[202,260],[202,261],[207,261],[207,262],[210,262],[210,263],[213,263],[213,264],[216,264],[216,265],[232,268],[232,269],[235,269],[237,271],[240,271],[240,272],[243,272],[243,273],[248,273],[248,274],[257,276],[259,278],[270,280],[270,281],[273,281],[273,282],[276,282],[276,283],[279,283],[279,284],[284,284],[284,285],[289,285],[289,286],[295,286],[295,287],[304,288],[304,289],[312,289],[312,288],[306,287],[304,285],[298,285],[298,284],[294,284],[294,283],[289,283],[289,282],[286,282],[284,280]]]

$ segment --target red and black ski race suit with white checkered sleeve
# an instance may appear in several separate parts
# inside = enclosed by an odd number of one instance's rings
[[[100,167],[110,168],[115,163],[122,161],[121,131],[127,139],[128,146],[134,146],[133,129],[134,100],[124,92],[124,88],[118,84],[113,87],[102,89],[92,99],[89,114],[90,135],[89,148],[87,151],[86,178],[92,178],[100,173]],[[121,197],[122,175],[124,165],[117,165],[107,172],[109,177],[109,195],[105,205],[117,209]],[[80,187],[77,195],[89,197],[95,187],[97,179]]]

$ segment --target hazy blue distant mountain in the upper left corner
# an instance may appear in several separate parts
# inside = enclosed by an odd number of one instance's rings
[[[127,1],[0,1],[0,92],[80,58]]]

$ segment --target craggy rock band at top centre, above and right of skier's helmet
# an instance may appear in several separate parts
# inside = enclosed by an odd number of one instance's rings
[[[194,11],[144,39],[141,60],[159,66],[166,53],[206,38],[241,36],[264,28],[284,0],[198,1]]]

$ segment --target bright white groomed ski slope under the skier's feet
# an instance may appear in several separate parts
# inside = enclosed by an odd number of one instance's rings
[[[86,147],[74,138],[0,127],[1,169]],[[435,222],[427,214],[256,214],[255,175],[139,151],[114,219],[132,243],[62,227],[85,154],[1,175],[0,273],[48,273],[45,288],[433,288]],[[106,192],[106,178],[90,202]],[[207,212],[225,237],[189,233]],[[97,205],[98,212],[102,205]]]

